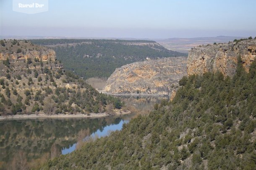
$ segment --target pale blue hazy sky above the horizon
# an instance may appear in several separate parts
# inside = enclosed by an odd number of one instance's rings
[[[254,37],[255,8],[256,0],[49,0],[47,12],[24,14],[0,0],[0,35]]]

